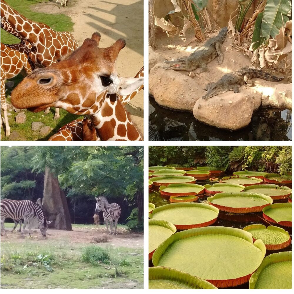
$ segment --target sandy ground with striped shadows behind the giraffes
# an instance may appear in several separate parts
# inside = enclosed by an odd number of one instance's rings
[[[38,4],[36,12],[66,14],[74,22],[72,34],[81,45],[84,39],[98,31],[101,47],[111,46],[117,39],[126,40],[116,67],[121,76],[135,76],[143,66],[143,0],[100,1],[70,0],[65,9],[53,2]],[[126,106],[132,121],[143,135],[143,91]]]

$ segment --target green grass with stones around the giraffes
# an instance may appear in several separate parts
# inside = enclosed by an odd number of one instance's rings
[[[72,31],[74,23],[71,21],[69,16],[64,14],[44,14],[44,13],[37,13],[32,10],[32,5],[36,5],[38,3],[48,2],[48,0],[7,0],[7,4],[9,4],[12,8],[16,9],[20,14],[23,14],[28,19],[33,21],[42,22],[49,25],[52,29],[56,31]],[[7,33],[3,29],[1,29],[1,42],[6,44],[14,44],[19,43],[19,39],[12,36],[11,34]],[[15,78],[11,79],[15,81],[13,88],[17,86],[17,84],[23,79],[23,77],[19,74]],[[13,88],[8,89],[6,91],[6,96],[10,95]],[[34,97],[32,97],[34,98]],[[10,97],[7,97],[7,102],[10,103]],[[44,115],[43,112],[39,113],[32,113],[29,111],[24,111],[26,114],[26,122],[25,123],[16,123],[14,117],[17,115],[15,111],[9,111],[11,116],[9,116],[9,125],[11,128],[11,133],[13,131],[17,131],[19,133],[19,138],[16,139],[17,141],[28,140],[28,141],[35,141],[35,140],[48,140],[50,136],[58,131],[59,128],[66,125],[70,121],[73,121],[78,117],[74,114],[70,114],[67,111],[60,109],[60,118],[57,121],[53,120],[55,109],[51,108],[50,113]],[[47,136],[41,136],[39,131],[34,132],[31,129],[31,124],[33,121],[41,121],[45,124],[45,126],[50,126],[53,130]],[[4,130],[1,129],[1,140],[8,141],[9,138],[5,137]]]

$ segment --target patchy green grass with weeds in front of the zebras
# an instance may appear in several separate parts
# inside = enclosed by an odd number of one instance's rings
[[[5,223],[6,229],[12,226]],[[143,288],[143,248],[6,233],[9,238],[1,238],[2,289]]]

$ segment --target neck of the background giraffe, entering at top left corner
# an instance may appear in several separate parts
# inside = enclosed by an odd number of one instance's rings
[[[32,45],[36,45],[38,42],[37,35],[41,31],[41,26],[46,27],[44,24],[38,24],[29,19],[26,19],[23,15],[19,14],[16,10],[9,7],[4,1],[1,1],[1,18],[3,18],[7,24],[15,31],[20,38],[24,38]]]

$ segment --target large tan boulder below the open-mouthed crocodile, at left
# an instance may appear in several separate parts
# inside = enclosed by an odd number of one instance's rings
[[[193,111],[195,102],[206,92],[191,77],[162,66],[156,64],[149,74],[149,92],[155,101],[166,108]]]

